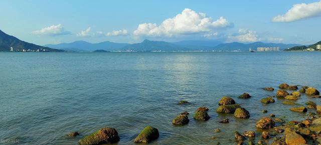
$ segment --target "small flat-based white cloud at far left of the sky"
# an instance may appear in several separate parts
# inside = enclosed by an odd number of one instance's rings
[[[65,31],[62,27],[62,24],[51,25],[48,27],[41,28],[41,30],[35,30],[32,32],[33,34],[39,35],[65,35],[71,34],[69,31]]]

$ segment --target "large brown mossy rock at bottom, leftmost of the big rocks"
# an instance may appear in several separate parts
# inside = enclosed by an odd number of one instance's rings
[[[101,128],[96,132],[80,139],[80,145],[114,143],[119,141],[118,132],[115,128]]]

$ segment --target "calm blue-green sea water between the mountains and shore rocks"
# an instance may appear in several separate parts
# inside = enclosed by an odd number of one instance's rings
[[[0,143],[77,144],[106,126],[118,131],[115,144],[135,144],[146,125],[159,130],[151,144],[235,144],[234,130],[253,130],[258,140],[260,117],[306,117],[276,97],[262,105],[260,99],[276,90],[261,88],[286,82],[320,90],[320,66],[320,52],[1,52]],[[252,97],[237,98],[243,92]],[[217,113],[224,95],[249,110],[250,118]],[[178,105],[182,99],[191,103]],[[321,104],[304,94],[296,102],[306,100]],[[200,106],[210,109],[208,121],[193,119]],[[182,111],[190,112],[190,122],[173,125]],[[225,117],[230,123],[219,123]],[[70,131],[80,135],[65,136]]]

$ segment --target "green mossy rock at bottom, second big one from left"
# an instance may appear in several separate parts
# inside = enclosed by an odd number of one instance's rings
[[[159,136],[158,129],[151,127],[151,126],[146,126],[137,135],[137,137],[134,139],[134,142],[148,143],[152,140],[157,139],[158,136]]]

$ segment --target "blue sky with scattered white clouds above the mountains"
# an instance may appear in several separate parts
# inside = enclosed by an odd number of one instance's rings
[[[321,0],[0,0],[0,18],[1,30],[40,45],[321,40]]]

